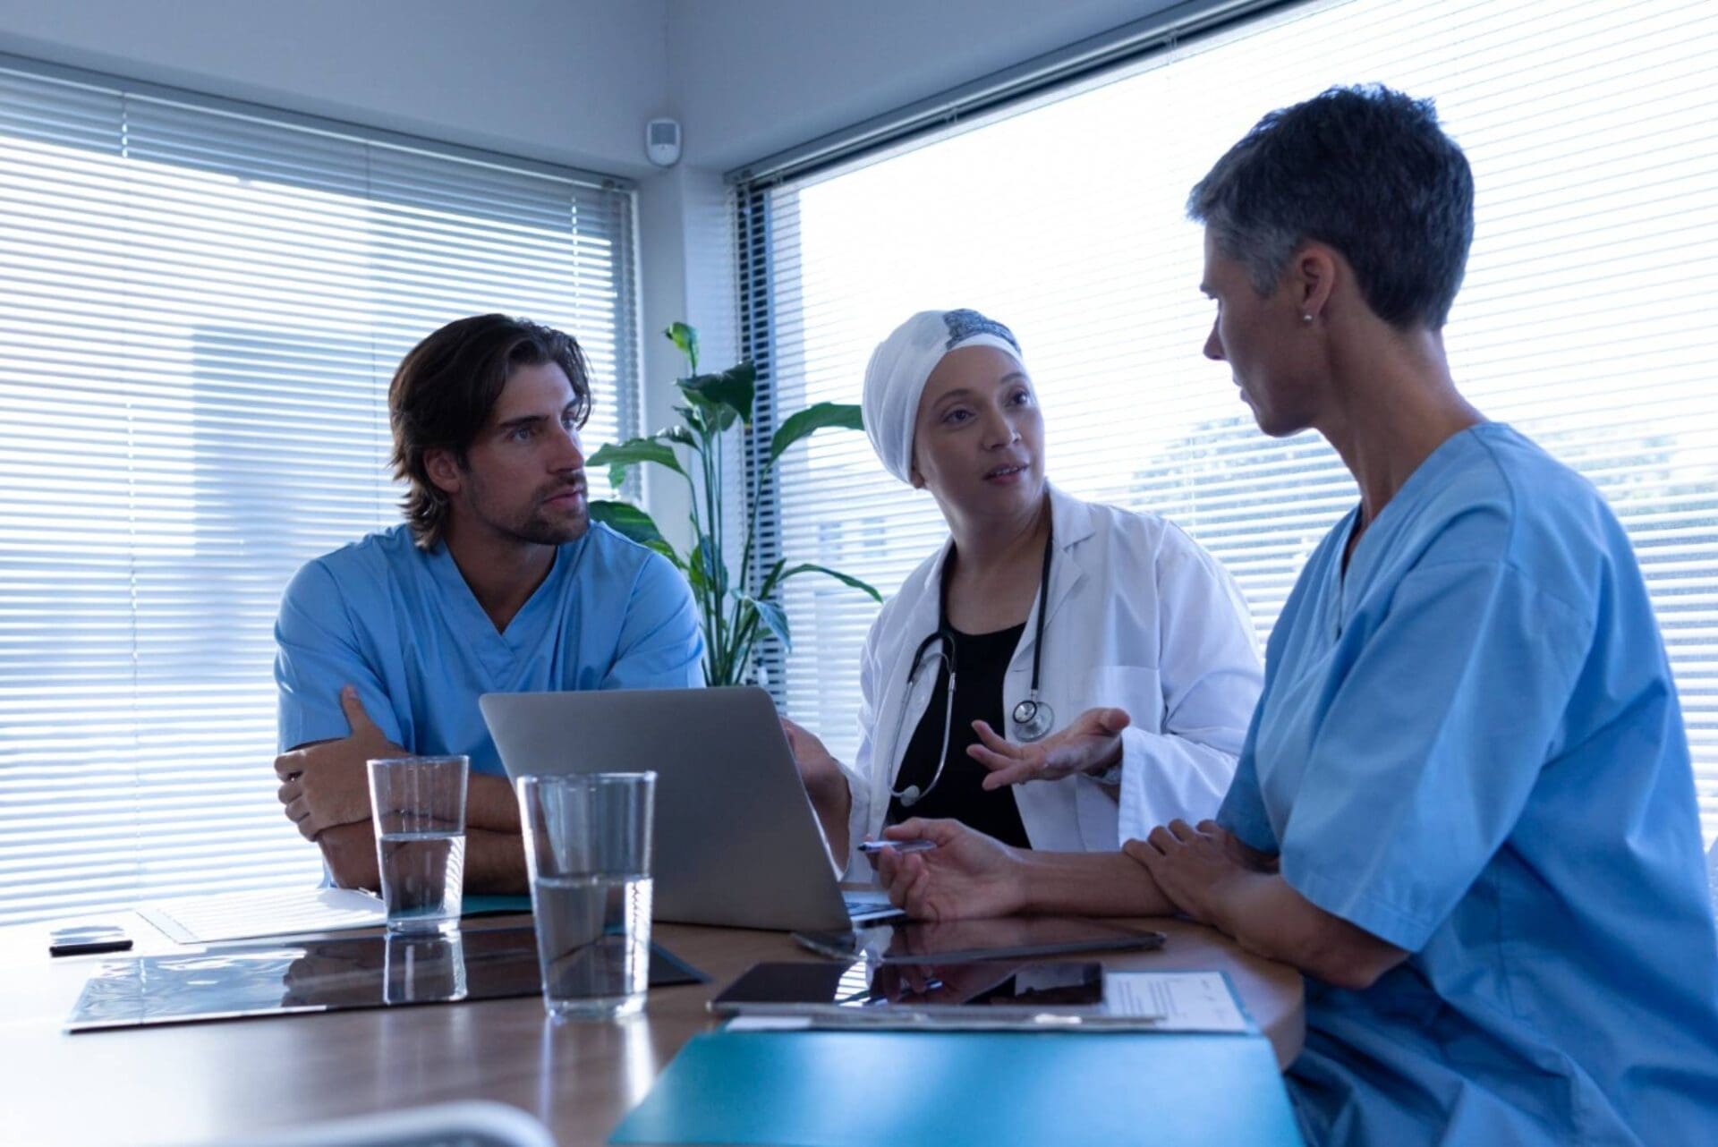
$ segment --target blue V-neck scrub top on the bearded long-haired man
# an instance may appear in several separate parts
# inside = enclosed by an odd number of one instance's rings
[[[304,565],[275,623],[280,749],[345,737],[340,687],[417,754],[467,754],[503,774],[478,711],[490,692],[685,689],[703,683],[692,594],[661,555],[593,524],[505,632],[478,604],[447,546],[409,527],[369,534]]]

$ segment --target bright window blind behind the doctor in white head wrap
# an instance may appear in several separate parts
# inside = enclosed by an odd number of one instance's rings
[[[1718,9],[1349,0],[1276,9],[1100,81],[842,167],[737,189],[742,331],[771,409],[857,402],[907,314],[978,307],[1020,337],[1051,479],[1156,510],[1235,575],[1259,639],[1356,488],[1314,434],[1258,433],[1201,347],[1192,184],[1270,108],[1331,84],[1435,96],[1477,179],[1450,325],[1465,393],[1586,474],[1627,527],[1718,834]],[[773,544],[885,592],[945,536],[859,436],[782,464]],[[874,606],[789,586],[771,687],[857,743]]]

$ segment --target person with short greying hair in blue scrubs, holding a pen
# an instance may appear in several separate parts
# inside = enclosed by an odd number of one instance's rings
[[[1429,103],[1333,89],[1194,189],[1206,355],[1361,503],[1266,651],[1216,822],[1022,857],[947,822],[916,915],[1184,912],[1306,972],[1316,1144],[1718,1142],[1718,939],[1658,623],[1598,491],[1457,391],[1472,177]],[[1118,865],[1137,865],[1132,872]]]

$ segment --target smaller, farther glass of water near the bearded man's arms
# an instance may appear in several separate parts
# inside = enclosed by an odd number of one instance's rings
[[[390,932],[459,927],[466,886],[466,757],[369,762],[376,867]]]

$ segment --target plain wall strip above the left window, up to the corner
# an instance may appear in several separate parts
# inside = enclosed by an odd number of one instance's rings
[[[667,0],[0,0],[0,52],[637,175]]]

